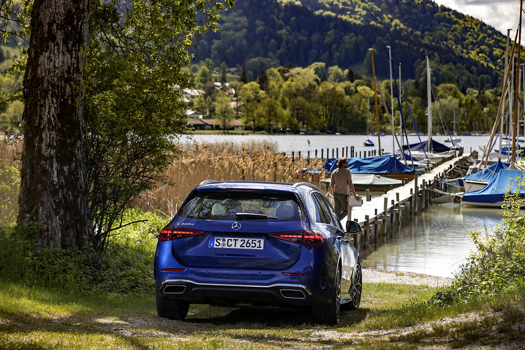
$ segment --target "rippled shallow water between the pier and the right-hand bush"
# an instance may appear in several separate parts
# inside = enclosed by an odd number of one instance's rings
[[[376,242],[361,252],[362,266],[454,277],[475,248],[471,231],[489,237],[500,224],[503,211],[447,203],[433,205],[416,217],[404,213],[400,234],[378,234]]]

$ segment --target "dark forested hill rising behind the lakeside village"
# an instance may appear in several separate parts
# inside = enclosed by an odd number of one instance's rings
[[[428,0],[236,0],[217,33],[199,38],[197,61],[260,69],[323,62],[390,76],[388,49],[403,78],[425,74],[428,55],[438,83],[488,89],[505,61],[506,38],[480,20]]]

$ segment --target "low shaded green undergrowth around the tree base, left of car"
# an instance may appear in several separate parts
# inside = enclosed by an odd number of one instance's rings
[[[155,236],[163,219],[137,210],[125,213],[124,219],[140,222],[117,230],[101,256],[79,250],[36,251],[20,231],[37,227],[0,228],[0,279],[75,294],[153,293]]]

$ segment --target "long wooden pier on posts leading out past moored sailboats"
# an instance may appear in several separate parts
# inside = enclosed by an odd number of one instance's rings
[[[458,168],[465,168],[464,163],[468,163],[469,159],[469,155],[452,158],[426,173],[416,174],[412,181],[385,191],[379,197],[371,198],[367,190],[367,198],[363,198],[362,206],[349,207],[350,218],[363,227],[363,231],[356,235],[354,245],[358,247],[362,240],[364,247],[367,247],[372,232],[375,238],[381,233],[392,235],[401,225],[402,215],[417,215],[419,211],[428,208],[434,198],[442,196],[444,192],[441,180],[444,175],[449,172],[457,173]],[[343,227],[347,219],[348,217],[341,219]]]

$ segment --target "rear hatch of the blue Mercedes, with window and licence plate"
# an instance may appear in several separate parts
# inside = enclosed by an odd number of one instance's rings
[[[197,192],[170,226],[193,232],[172,241],[187,267],[282,270],[301,254],[299,204],[286,192]]]

